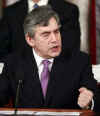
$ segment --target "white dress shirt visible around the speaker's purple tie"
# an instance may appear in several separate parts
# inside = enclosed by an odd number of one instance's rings
[[[34,49],[33,49],[33,54],[34,54],[34,58],[35,58],[35,60],[36,60],[37,67],[38,67],[39,79],[41,80],[41,72],[42,72],[42,70],[43,70],[43,64],[42,64],[42,61],[43,61],[43,60],[46,60],[46,59],[40,57],[40,56],[35,52]],[[52,68],[52,64],[53,64],[54,58],[47,59],[47,60],[50,61],[49,71],[51,71],[51,68]]]

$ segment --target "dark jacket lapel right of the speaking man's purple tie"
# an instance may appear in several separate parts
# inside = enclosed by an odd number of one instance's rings
[[[59,68],[60,67],[60,68]],[[49,105],[50,101],[52,101],[53,96],[55,94],[55,86],[57,86],[57,81],[59,79],[61,79],[61,74],[62,74],[62,69],[63,67],[63,63],[61,60],[59,60],[58,58],[56,58],[54,60],[53,66],[52,66],[52,70],[50,72],[50,80],[48,83],[48,88],[47,88],[47,94],[46,94],[46,99],[45,99],[45,106]],[[62,69],[62,70],[61,70]]]

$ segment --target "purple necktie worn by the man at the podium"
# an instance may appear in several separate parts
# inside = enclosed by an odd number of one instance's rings
[[[42,87],[43,95],[45,97],[46,91],[47,91],[48,80],[49,80],[49,68],[48,68],[48,66],[50,64],[50,61],[43,60],[42,64],[44,65],[44,67],[43,67],[43,71],[41,73],[41,87]]]

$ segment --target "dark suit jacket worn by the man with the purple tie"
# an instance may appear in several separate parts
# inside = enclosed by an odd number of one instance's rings
[[[95,96],[96,80],[93,78],[89,57],[85,53],[77,52],[67,60],[65,57],[55,58],[45,99],[32,51],[11,55],[6,61],[0,77],[1,106],[7,103],[9,97],[15,103],[19,80],[23,82],[18,107],[76,109],[79,108],[77,99],[80,87],[92,90]]]

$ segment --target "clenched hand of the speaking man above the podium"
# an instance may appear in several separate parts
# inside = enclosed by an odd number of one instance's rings
[[[87,108],[93,99],[93,92],[85,87],[79,89],[78,105],[81,108]]]

